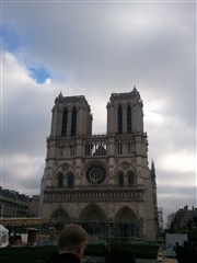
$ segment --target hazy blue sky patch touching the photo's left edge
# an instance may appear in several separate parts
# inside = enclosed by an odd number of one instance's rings
[[[15,53],[20,47],[19,35],[9,26],[1,27],[1,39],[2,48],[10,53]]]

